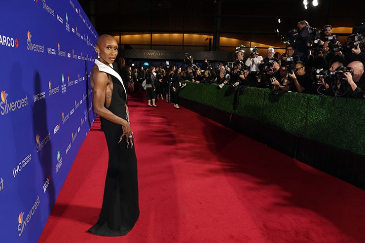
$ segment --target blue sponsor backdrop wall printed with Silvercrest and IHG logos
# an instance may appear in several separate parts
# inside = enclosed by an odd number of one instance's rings
[[[0,3],[0,242],[37,242],[95,120],[77,0]]]

